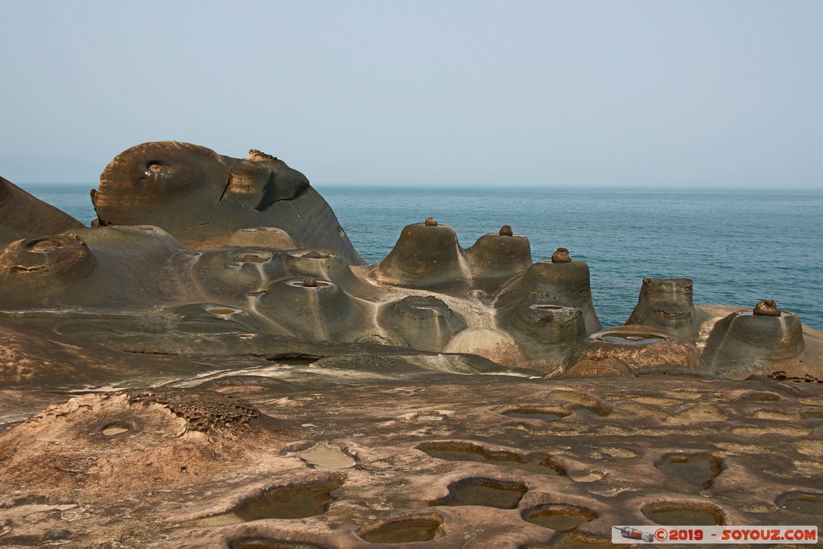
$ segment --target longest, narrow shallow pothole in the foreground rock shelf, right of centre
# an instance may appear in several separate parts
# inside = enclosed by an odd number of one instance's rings
[[[420,444],[417,449],[429,454],[432,458],[447,461],[491,463],[491,465],[518,468],[542,475],[565,475],[565,471],[560,467],[560,464],[551,461],[551,456],[546,454],[522,456],[514,454],[514,452],[493,452],[479,444],[460,442],[426,443]]]

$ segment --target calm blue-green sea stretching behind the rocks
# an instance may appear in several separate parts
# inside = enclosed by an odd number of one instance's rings
[[[95,184],[20,184],[83,223]],[[657,191],[313,185],[369,263],[433,216],[463,248],[510,225],[534,261],[558,247],[588,263],[604,327],[625,323],[644,277],[691,278],[698,304],[770,298],[823,329],[823,191]]]

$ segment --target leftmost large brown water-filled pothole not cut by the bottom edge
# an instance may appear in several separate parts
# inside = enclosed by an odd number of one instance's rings
[[[323,514],[334,500],[331,492],[342,486],[338,481],[302,486],[282,486],[267,491],[256,500],[233,509],[243,521],[260,519],[303,519]]]

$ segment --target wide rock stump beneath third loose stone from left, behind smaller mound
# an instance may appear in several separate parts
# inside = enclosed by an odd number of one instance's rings
[[[582,261],[551,263],[540,261],[532,264],[525,272],[509,281],[496,301],[499,314],[520,306],[529,299],[530,292],[541,295],[543,305],[576,307],[583,313],[586,333],[594,333],[602,328],[594,310],[592,288],[588,274],[588,264]],[[531,303],[529,305],[535,305]]]

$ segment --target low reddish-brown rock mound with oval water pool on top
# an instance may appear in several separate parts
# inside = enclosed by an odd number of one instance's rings
[[[592,370],[603,360],[607,362],[600,375],[608,371],[627,375],[622,365],[634,375],[712,373],[690,342],[649,326],[626,325],[593,333],[579,342],[550,377],[579,377],[581,371]]]

